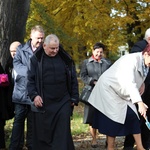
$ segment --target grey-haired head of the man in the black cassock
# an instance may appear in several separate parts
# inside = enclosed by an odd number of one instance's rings
[[[57,55],[59,51],[59,39],[55,34],[48,35],[43,44],[43,48],[45,53],[50,56],[54,57]]]

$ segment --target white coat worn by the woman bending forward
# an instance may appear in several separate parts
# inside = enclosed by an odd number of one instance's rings
[[[142,53],[122,56],[96,83],[89,102],[108,118],[124,124],[127,106],[137,114],[134,103],[142,101],[139,88],[145,80]]]

